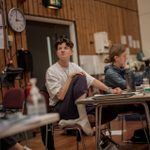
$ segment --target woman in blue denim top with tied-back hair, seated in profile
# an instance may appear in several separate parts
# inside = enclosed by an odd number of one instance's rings
[[[109,87],[120,87],[121,89],[127,88],[126,71],[125,68],[127,61],[126,49],[121,44],[114,44],[110,47],[109,56],[105,59],[106,63],[110,63],[105,66],[105,84]],[[134,73],[135,85],[140,85],[143,82],[143,78],[147,76],[147,69],[143,74]]]

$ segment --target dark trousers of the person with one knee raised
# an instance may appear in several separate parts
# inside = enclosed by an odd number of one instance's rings
[[[75,101],[87,93],[87,81],[83,75],[77,75],[72,80],[63,101],[56,104],[54,110],[60,114],[61,119],[76,119],[79,117]]]

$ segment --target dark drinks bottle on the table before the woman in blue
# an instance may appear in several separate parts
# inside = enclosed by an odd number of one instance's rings
[[[127,84],[127,91],[128,92],[135,92],[135,77],[133,70],[126,70],[126,84]]]

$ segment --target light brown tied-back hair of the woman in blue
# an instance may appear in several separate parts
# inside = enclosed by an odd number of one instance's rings
[[[109,49],[109,55],[104,60],[105,63],[113,63],[115,61],[115,56],[120,56],[126,51],[125,46],[122,44],[113,44]]]

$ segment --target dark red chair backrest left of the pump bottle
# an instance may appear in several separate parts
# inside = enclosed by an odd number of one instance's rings
[[[11,88],[5,93],[2,105],[6,109],[22,109],[24,101],[24,90],[21,88]]]

